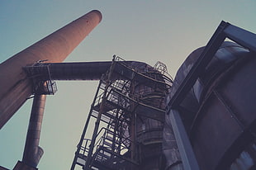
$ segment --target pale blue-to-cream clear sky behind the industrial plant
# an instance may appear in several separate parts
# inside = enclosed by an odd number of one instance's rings
[[[102,22],[65,62],[110,61],[116,54],[152,66],[161,61],[174,78],[220,21],[256,33],[255,0],[0,0],[0,62],[93,9],[102,12]],[[97,84],[57,82],[58,92],[46,99],[39,169],[70,168]],[[0,165],[5,168],[22,158],[31,103],[0,130]]]

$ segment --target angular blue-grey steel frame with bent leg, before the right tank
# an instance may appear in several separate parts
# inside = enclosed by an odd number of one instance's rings
[[[244,46],[250,50],[250,52],[256,52],[256,35],[254,33],[245,31],[237,26],[233,26],[228,22],[221,21],[215,33],[207,43],[205,50],[203,50],[197,59],[197,62],[192,66],[189,73],[187,73],[187,77],[184,78],[183,82],[178,87],[178,90],[174,93],[167,105],[167,114],[170,116],[174,135],[178,140],[178,149],[181,153],[183,167],[185,170],[197,170],[199,167],[197,159],[192,151],[191,143],[187,137],[186,130],[184,130],[183,122],[176,109],[179,104],[183,102],[187,92],[189,92],[194,83],[196,83],[197,78],[199,78],[201,73],[204,73],[203,71],[207,64],[210,63],[214,54],[216,54],[216,51],[226,38]]]

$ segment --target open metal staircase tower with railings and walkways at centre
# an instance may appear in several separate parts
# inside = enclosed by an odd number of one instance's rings
[[[72,170],[77,165],[83,169],[111,170],[138,167],[140,158],[133,123],[135,112],[147,108],[149,116],[150,111],[157,112],[161,116],[154,116],[154,118],[164,119],[164,110],[140,102],[140,98],[143,97],[133,92],[132,84],[147,83],[149,87],[154,87],[156,83],[166,87],[170,85],[137,72],[136,68],[122,64],[117,59],[113,59],[111,68],[102,75],[97,87],[97,93],[73,159]],[[93,120],[95,126],[93,132],[90,132],[88,125]]]

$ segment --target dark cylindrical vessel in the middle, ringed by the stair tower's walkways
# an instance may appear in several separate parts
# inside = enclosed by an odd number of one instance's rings
[[[136,64],[134,66],[138,72],[145,74],[145,76],[159,82],[164,82],[163,74],[159,73],[155,68],[147,64]],[[162,110],[165,109],[164,98],[168,93],[166,84],[134,81],[131,87],[139,102]],[[159,169],[160,157],[162,155],[164,119],[163,121],[154,120],[140,116],[140,114],[139,112],[136,113],[137,117],[135,119],[136,141],[139,144],[137,147],[140,150],[141,161],[139,169]],[[149,113],[145,112],[144,115],[146,114]]]

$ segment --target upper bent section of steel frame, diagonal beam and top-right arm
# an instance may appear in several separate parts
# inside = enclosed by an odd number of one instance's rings
[[[192,88],[197,78],[203,73],[207,64],[211,61],[216,51],[220,48],[225,38],[234,40],[237,44],[244,46],[250,51],[256,52],[256,35],[252,32],[245,31],[237,26],[230,25],[230,23],[221,21],[211,40],[206,45],[197,62],[193,65],[183,83],[178,87],[177,92],[174,93],[168,107],[175,108],[186,97],[187,92]]]

